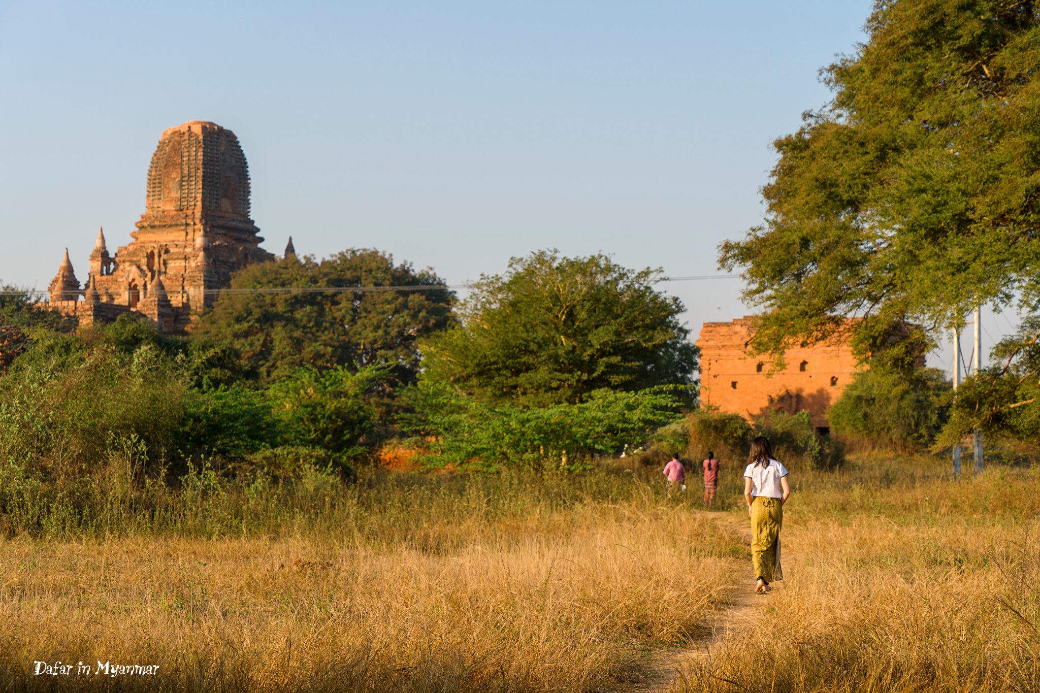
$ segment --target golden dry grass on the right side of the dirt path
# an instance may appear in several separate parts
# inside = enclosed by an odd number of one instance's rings
[[[784,511],[784,586],[675,690],[1038,691],[1038,509],[1036,468],[805,474]]]

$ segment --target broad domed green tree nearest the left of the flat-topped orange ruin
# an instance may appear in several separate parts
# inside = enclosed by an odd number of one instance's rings
[[[658,270],[541,250],[482,275],[462,323],[422,342],[423,379],[484,402],[580,402],[601,389],[688,384],[696,348]]]

